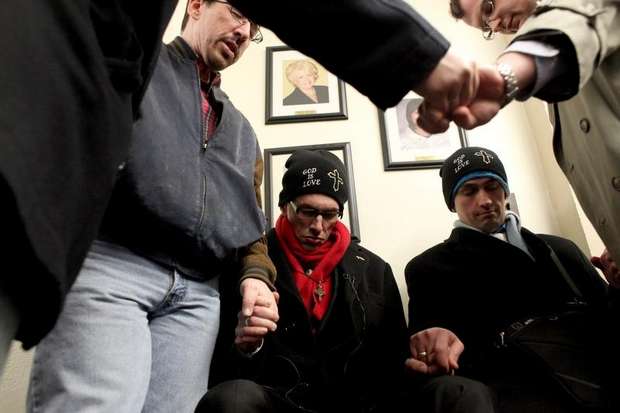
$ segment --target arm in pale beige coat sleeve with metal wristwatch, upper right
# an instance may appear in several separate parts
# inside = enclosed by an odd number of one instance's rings
[[[545,84],[538,85],[534,96],[547,102],[559,102],[575,96],[591,79],[605,58],[620,47],[620,2],[617,0],[555,0],[553,6],[542,8],[528,18],[513,39],[518,42],[533,41],[559,51],[560,62],[555,73],[545,73]],[[503,53],[497,63],[506,63],[514,71],[521,91],[531,90],[538,80],[535,54],[523,50]],[[540,63],[540,62],[538,62]],[[490,77],[485,79],[491,79]],[[479,90],[487,90],[481,78]],[[495,87],[495,84],[491,84]],[[472,129],[491,120],[501,109],[502,96],[494,107],[484,110],[461,110],[453,114],[457,124]],[[472,113],[473,112],[473,113]],[[437,121],[429,121],[432,129]]]

